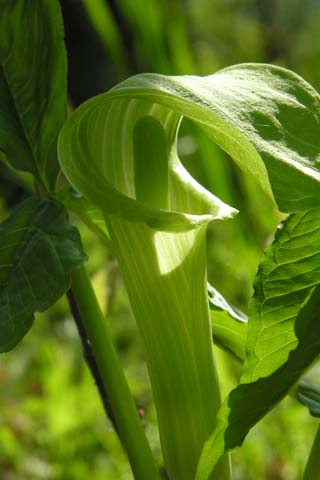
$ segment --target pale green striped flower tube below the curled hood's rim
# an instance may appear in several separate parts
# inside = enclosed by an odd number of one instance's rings
[[[108,230],[144,344],[166,470],[170,479],[193,480],[221,405],[207,300],[206,226],[157,232],[109,217]],[[226,456],[210,478],[229,476]]]

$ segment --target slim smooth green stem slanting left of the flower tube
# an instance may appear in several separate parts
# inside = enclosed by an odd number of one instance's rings
[[[84,267],[72,272],[72,291],[92,345],[121,441],[136,480],[158,479],[151,450],[131,396],[107,321]]]

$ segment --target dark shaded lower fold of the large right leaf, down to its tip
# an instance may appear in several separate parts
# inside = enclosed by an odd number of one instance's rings
[[[240,384],[223,403],[217,427],[201,454],[196,480],[205,480],[215,462],[242,444],[246,434],[298,381],[320,351],[320,288],[315,288],[296,319],[298,347],[285,364],[266,378]]]

